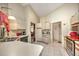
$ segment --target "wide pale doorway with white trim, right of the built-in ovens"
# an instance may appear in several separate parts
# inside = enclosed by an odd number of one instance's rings
[[[58,42],[61,43],[62,42],[62,34],[61,34],[61,22],[56,22],[53,23],[53,27],[52,27],[52,35],[53,35],[53,42]]]

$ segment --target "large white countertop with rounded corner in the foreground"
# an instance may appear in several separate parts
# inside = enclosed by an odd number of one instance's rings
[[[1,42],[0,56],[39,56],[43,46],[20,41]]]

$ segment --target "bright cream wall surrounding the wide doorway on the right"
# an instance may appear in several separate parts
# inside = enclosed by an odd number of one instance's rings
[[[46,16],[46,18],[51,23],[51,41],[52,41],[52,23],[62,22],[62,45],[64,45],[64,36],[66,36],[70,32],[70,19],[71,17],[78,12],[78,4],[64,4],[61,7],[57,8],[50,14]]]

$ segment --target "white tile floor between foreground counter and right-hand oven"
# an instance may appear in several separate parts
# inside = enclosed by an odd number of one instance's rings
[[[41,42],[36,42],[35,44],[44,46],[41,54],[42,56],[68,56],[66,50],[61,46],[61,43],[54,42],[52,44],[44,44]]]

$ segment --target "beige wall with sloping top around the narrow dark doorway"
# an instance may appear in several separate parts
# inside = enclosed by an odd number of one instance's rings
[[[27,35],[29,36],[29,42],[31,42],[31,33],[30,33],[30,24],[35,23],[37,24],[39,22],[39,17],[36,15],[36,13],[34,12],[34,10],[32,9],[32,7],[30,5],[27,5],[25,7],[25,17],[26,17],[26,32]],[[37,34],[37,33],[36,33]]]

